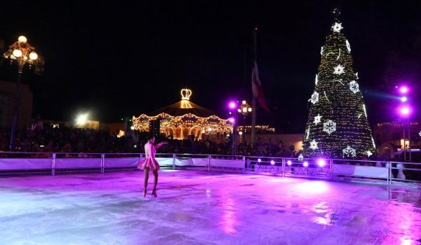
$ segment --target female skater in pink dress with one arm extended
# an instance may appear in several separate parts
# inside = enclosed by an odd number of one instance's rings
[[[138,163],[138,169],[142,169],[145,171],[145,182],[143,188],[143,197],[146,197],[147,193],[147,181],[149,180],[149,172],[152,171],[154,174],[154,188],[152,189],[151,195],[153,197],[157,197],[156,195],[156,185],[158,184],[158,170],[159,170],[159,163],[155,159],[156,149],[160,148],[164,144],[168,144],[168,142],[161,142],[159,144],[154,145],[155,137],[150,137],[145,144],[145,159],[141,160]]]

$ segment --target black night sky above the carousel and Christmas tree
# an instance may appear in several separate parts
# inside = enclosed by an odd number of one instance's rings
[[[302,133],[335,6],[371,125],[397,119],[394,85],[421,83],[420,1],[63,2],[2,4],[6,45],[25,35],[45,57],[42,76],[22,78],[34,94],[34,117],[74,120],[89,112],[93,120],[119,122],[178,102],[189,87],[192,102],[227,118],[229,99],[251,100],[251,33],[258,26],[270,109],[258,109],[258,124]],[[15,71],[3,66],[0,78],[15,81]],[[411,93],[421,108],[420,86]]]

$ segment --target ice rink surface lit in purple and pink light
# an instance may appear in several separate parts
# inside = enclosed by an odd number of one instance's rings
[[[0,244],[421,244],[420,188],[252,174],[0,177]]]

